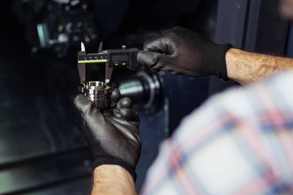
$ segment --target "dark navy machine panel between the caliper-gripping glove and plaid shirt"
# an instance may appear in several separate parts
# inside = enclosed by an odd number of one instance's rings
[[[171,136],[181,120],[208,96],[209,77],[188,78],[160,72],[164,90],[165,132]]]

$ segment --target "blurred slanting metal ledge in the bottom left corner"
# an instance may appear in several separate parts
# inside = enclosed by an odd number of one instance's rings
[[[79,156],[77,158],[77,156]],[[50,184],[91,175],[91,153],[81,152],[23,161],[13,167],[0,170],[0,195],[32,191]],[[54,165],[54,166],[52,166]]]

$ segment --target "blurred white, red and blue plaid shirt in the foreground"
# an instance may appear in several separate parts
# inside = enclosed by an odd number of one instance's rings
[[[142,195],[293,194],[293,72],[215,95],[159,151]]]

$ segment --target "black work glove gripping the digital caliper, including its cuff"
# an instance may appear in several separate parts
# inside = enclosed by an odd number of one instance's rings
[[[177,26],[166,34],[147,40],[137,60],[154,72],[169,71],[173,75],[227,77],[226,52],[231,44],[216,44],[187,28]],[[166,54],[166,55],[163,55]]]

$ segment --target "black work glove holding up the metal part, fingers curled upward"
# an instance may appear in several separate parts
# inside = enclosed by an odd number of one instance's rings
[[[135,167],[141,153],[138,113],[129,98],[120,99],[119,90],[110,95],[111,106],[97,109],[84,95],[74,104],[84,119],[84,137],[93,154],[93,168],[103,164],[120,165],[136,180]]]

